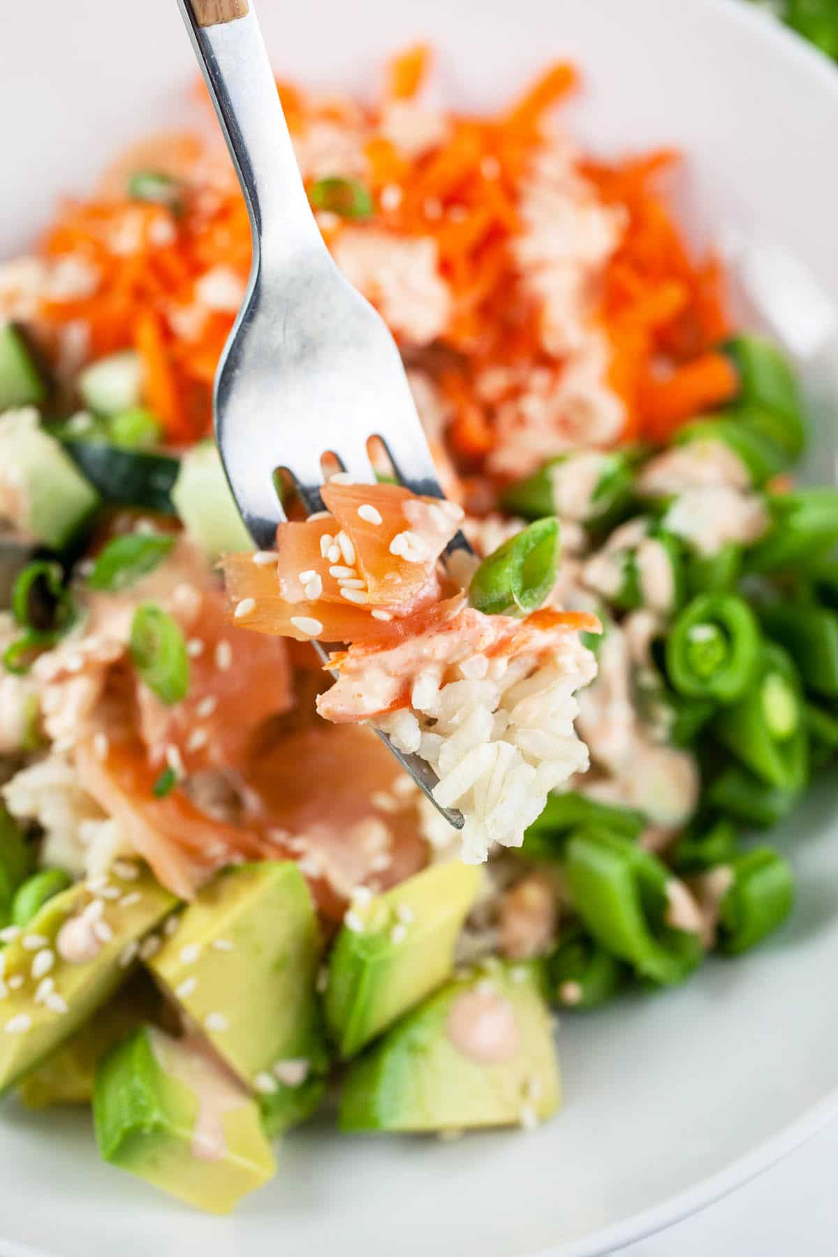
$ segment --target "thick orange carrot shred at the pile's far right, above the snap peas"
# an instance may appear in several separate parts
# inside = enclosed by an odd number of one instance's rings
[[[705,353],[662,380],[651,376],[639,393],[645,432],[653,441],[668,441],[686,420],[724,406],[739,387],[736,370],[724,353]]]

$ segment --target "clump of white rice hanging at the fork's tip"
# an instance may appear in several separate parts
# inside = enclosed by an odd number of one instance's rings
[[[469,671],[472,660],[466,662]],[[572,637],[549,662],[534,655],[509,666],[492,660],[481,680],[457,666],[443,681],[438,669],[427,667],[413,684],[415,705],[379,720],[401,750],[418,750],[431,764],[440,778],[437,803],[464,813],[466,864],[481,864],[494,843],[519,847],[548,793],[587,769],[573,695],[594,671],[593,655]]]

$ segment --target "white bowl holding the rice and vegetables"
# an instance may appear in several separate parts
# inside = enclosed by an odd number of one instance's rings
[[[452,101],[496,106],[547,59],[572,57],[587,79],[568,108],[573,128],[603,153],[686,151],[694,221],[748,246],[751,300],[795,341],[815,402],[830,387],[838,75],[761,14],[732,0],[261,0],[260,10],[278,69],[322,84],[369,88],[384,57],[423,36]],[[176,119],[190,58],[173,0],[4,8],[3,251],[25,246],[55,195],[83,190],[128,138]],[[819,289],[788,253],[754,241],[790,250]],[[830,449],[832,429],[820,432]],[[583,1257],[666,1226],[838,1111],[834,811],[824,787],[785,826],[799,903],[775,941],[709,963],[681,989],[563,1018],[567,1102],[541,1130],[440,1144],[343,1140],[324,1124],[288,1139],[276,1182],[219,1222],[99,1164],[85,1116],[10,1102],[0,1252]]]

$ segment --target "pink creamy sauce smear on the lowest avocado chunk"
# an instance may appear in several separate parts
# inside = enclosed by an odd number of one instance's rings
[[[151,1029],[148,1033],[160,1067],[197,1099],[190,1145],[192,1156],[199,1161],[221,1160],[227,1150],[224,1115],[248,1104],[248,1092],[199,1038],[180,1040],[180,1051],[172,1051],[173,1041],[162,1031]]]

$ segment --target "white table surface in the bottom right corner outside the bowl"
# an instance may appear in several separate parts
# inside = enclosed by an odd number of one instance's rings
[[[700,1213],[619,1257],[835,1257],[838,1123]]]

